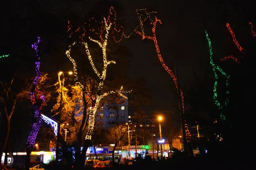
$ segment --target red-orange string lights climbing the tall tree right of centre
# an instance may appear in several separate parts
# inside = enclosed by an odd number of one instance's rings
[[[142,40],[150,39],[150,40],[154,41],[154,45],[155,45],[155,48],[156,48],[156,51],[157,51],[157,56],[158,56],[158,59],[160,60],[160,63],[162,64],[163,68],[167,71],[167,73],[172,77],[172,80],[174,81],[176,88],[178,88],[178,86],[177,86],[177,78],[176,78],[175,74],[172,72],[172,70],[163,61],[162,55],[160,53],[160,48],[158,46],[157,37],[156,37],[156,26],[157,26],[158,22],[160,24],[162,24],[161,20],[157,19],[156,16],[155,16],[154,21],[151,20],[150,15],[153,14],[153,13],[156,13],[154,11],[146,12],[146,9],[139,9],[139,10],[136,10],[136,11],[137,11],[137,14],[138,14],[138,18],[140,20],[141,32],[137,31],[137,30],[134,30],[134,31],[137,34],[140,34],[140,36],[142,37]],[[145,11],[145,14],[146,14],[147,17],[145,17],[144,20],[142,20],[143,14],[140,14],[140,11]],[[149,18],[151,20],[151,25],[153,25],[153,27],[152,27],[152,33],[153,33],[152,36],[146,36],[145,32],[144,32],[144,26],[143,25],[144,25],[144,22],[145,22],[145,20],[147,18]],[[180,97],[181,97],[181,102],[182,102],[182,111],[184,113],[184,110],[185,110],[185,108],[184,108],[184,96],[183,96],[183,92],[182,92],[181,89],[180,89]],[[188,133],[188,132],[189,132],[189,130],[187,129],[186,130],[186,136],[190,136],[190,133]],[[189,139],[187,138],[187,140],[189,140]]]

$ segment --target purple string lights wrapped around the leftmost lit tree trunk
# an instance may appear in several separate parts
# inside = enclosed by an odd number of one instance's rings
[[[41,110],[42,110],[42,108],[44,106],[44,103],[45,103],[45,97],[44,97],[42,91],[35,90],[35,88],[38,84],[38,81],[41,77],[41,71],[40,71],[41,62],[40,62],[40,56],[38,55],[38,45],[39,45],[40,42],[41,42],[41,39],[40,39],[40,37],[38,37],[38,41],[35,42],[32,45],[32,48],[34,48],[35,52],[36,52],[37,61],[35,62],[35,64],[36,64],[36,67],[35,67],[36,77],[33,81],[32,90],[30,91],[30,99],[31,99],[31,102],[32,102],[32,105],[33,105],[33,108],[34,108],[34,117],[35,117],[35,119],[37,119],[37,121],[34,122],[34,124],[32,126],[32,129],[29,133],[29,137],[28,137],[28,140],[27,140],[27,147],[34,147],[35,139],[36,139],[36,136],[38,134],[38,131],[40,130],[41,122],[43,120],[42,117],[41,117]],[[41,105],[40,105],[39,108],[36,105],[35,92],[38,93],[40,95],[40,99],[42,99],[42,102],[41,102]]]

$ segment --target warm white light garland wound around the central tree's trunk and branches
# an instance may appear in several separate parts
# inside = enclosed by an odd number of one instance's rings
[[[90,55],[90,50],[89,50],[89,47],[88,47],[88,44],[86,42],[80,42],[81,44],[83,44],[85,46],[85,49],[86,49],[86,53],[87,53],[87,56],[88,56],[88,59],[90,60],[90,64],[93,68],[93,71],[95,72],[95,74],[99,77],[99,85],[98,85],[98,89],[97,89],[97,94],[95,96],[92,96],[90,93],[88,93],[84,86],[78,81],[78,77],[77,77],[77,66],[76,66],[76,61],[70,56],[70,51],[71,51],[71,48],[73,45],[76,44],[76,42],[73,42],[72,45],[69,46],[69,50],[66,52],[66,55],[68,57],[68,59],[70,59],[70,61],[73,63],[73,71],[74,71],[74,76],[75,76],[75,82],[77,85],[79,85],[79,87],[81,88],[81,90],[84,92],[84,94],[87,94],[87,96],[89,96],[90,100],[91,100],[91,109],[90,109],[90,113],[89,113],[89,123],[88,123],[88,128],[87,128],[87,131],[86,131],[86,136],[85,136],[85,139],[87,140],[90,140],[91,139],[91,136],[92,136],[92,133],[93,133],[93,128],[94,128],[94,124],[95,124],[95,113],[97,111],[97,108],[98,108],[98,105],[99,105],[99,102],[100,100],[109,95],[109,94],[113,94],[113,93],[117,93],[119,94],[120,96],[124,97],[124,98],[127,98],[125,95],[123,95],[123,93],[130,93],[131,91],[124,91],[122,90],[123,87],[121,87],[119,90],[116,90],[116,91],[109,91],[107,93],[104,93],[104,94],[101,94],[102,92],[102,88],[103,88],[103,85],[104,85],[104,80],[106,78],[106,72],[107,72],[107,67],[109,64],[113,63],[115,64],[116,62],[115,61],[108,61],[107,60],[107,55],[106,55],[106,47],[107,47],[107,42],[108,42],[108,36],[109,36],[109,31],[110,31],[110,28],[112,25],[114,25],[114,28],[113,30],[116,31],[116,28],[115,28],[115,19],[113,21],[113,23],[111,23],[111,20],[110,20],[110,16],[113,14],[112,13],[112,10],[113,10],[113,7],[111,7],[110,9],[110,14],[108,16],[108,19],[106,20],[104,18],[104,21],[101,22],[102,23],[102,27],[101,27],[101,30],[99,31],[99,38],[100,40],[93,40],[91,37],[89,37],[90,41],[92,42],[96,42],[99,47],[102,49],[102,58],[103,58],[103,68],[102,68],[102,73],[100,73],[94,63],[93,63],[93,59]],[[116,14],[114,12],[114,17],[116,18]],[[70,30],[71,26],[68,26],[68,31]],[[122,28],[122,27],[121,27]],[[78,28],[78,30],[81,29],[81,28]],[[85,30],[85,29],[84,29]],[[93,29],[94,31],[94,29]],[[120,30],[119,30],[120,31]],[[118,32],[118,31],[117,31]],[[103,34],[105,34],[103,36]],[[113,33],[112,33],[113,34]],[[80,37],[81,40],[82,40],[82,37],[85,35],[85,33],[82,34],[82,36]],[[70,34],[71,36],[71,34]],[[114,38],[115,40],[115,38]],[[116,40],[115,40],[116,41]],[[120,40],[119,40],[120,41]],[[119,42],[119,41],[116,41],[116,42]]]

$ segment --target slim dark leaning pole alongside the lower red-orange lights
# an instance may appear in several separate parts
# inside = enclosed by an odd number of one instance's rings
[[[188,143],[186,140],[186,131],[185,131],[185,121],[183,117],[183,108],[182,108],[182,101],[181,101],[181,94],[180,94],[180,85],[179,85],[179,78],[177,74],[177,65],[176,62],[174,61],[174,68],[175,68],[175,76],[177,79],[177,94],[178,94],[178,103],[179,103],[179,111],[180,111],[180,122],[181,122],[181,130],[182,130],[182,136],[183,136],[183,149],[184,153],[186,155],[189,155],[189,148],[188,148]]]

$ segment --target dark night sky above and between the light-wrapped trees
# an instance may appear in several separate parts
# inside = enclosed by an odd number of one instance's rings
[[[123,5],[122,19],[126,21],[125,34],[130,34],[132,28],[138,24],[136,9],[147,8],[148,11],[157,11],[158,19],[162,24],[157,26],[157,40],[166,65],[174,71],[174,61],[177,62],[180,87],[188,90],[194,81],[193,72],[201,74],[201,69],[211,67],[209,64],[209,49],[204,30],[212,35],[215,57],[224,56],[237,51],[225,24],[229,22],[239,35],[239,41],[245,42],[249,27],[243,18],[250,16],[254,3],[250,1],[197,0],[197,1],[166,1],[166,0],[117,0]],[[7,1],[6,1],[7,2]],[[41,6],[42,11],[73,11],[76,14],[86,13],[93,8],[95,0],[80,1],[37,1],[34,6]],[[4,4],[4,3],[3,3]],[[21,4],[21,3],[20,3]],[[23,6],[30,6],[26,1],[23,5],[17,4],[9,14],[26,16],[30,11],[23,11]],[[39,4],[39,5],[38,5]],[[41,4],[41,5],[40,5]],[[8,5],[10,7],[10,5]],[[2,6],[2,12],[7,12]],[[246,11],[246,12],[245,12]],[[4,16],[3,14],[1,14]],[[119,13],[117,13],[117,16]],[[25,18],[26,20],[26,18]],[[50,26],[49,26],[50,27]],[[17,28],[19,29],[19,28]],[[140,30],[139,30],[140,31]],[[35,32],[35,30],[33,31]],[[134,55],[127,73],[131,79],[143,77],[151,92],[151,104],[146,113],[177,112],[175,105],[176,88],[169,74],[160,65],[154,42],[141,40],[140,35],[121,42]],[[68,61],[68,60],[67,60]],[[201,62],[200,62],[201,61]],[[42,68],[44,65],[42,65]],[[185,94],[186,95],[186,94]],[[186,101],[185,101],[186,102]],[[132,111],[131,111],[132,112]],[[168,112],[169,113],[169,112]]]

